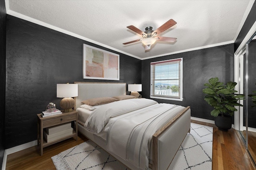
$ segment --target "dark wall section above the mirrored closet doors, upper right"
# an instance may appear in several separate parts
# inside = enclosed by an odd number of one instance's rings
[[[239,45],[242,43],[242,41],[244,40],[245,36],[249,32],[249,30],[251,29],[251,27],[255,21],[256,21],[256,1],[254,1],[254,4],[252,5],[252,9],[250,10],[250,12],[244,22],[244,25],[243,25],[238,37],[236,38],[235,45],[234,45],[234,51],[236,51],[238,49]]]

